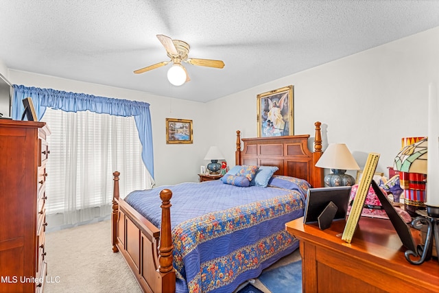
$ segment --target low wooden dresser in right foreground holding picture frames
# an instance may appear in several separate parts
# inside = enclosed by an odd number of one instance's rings
[[[361,217],[351,244],[341,237],[345,224],[322,231],[299,218],[285,225],[300,240],[303,292],[439,292],[438,260],[410,264],[390,220]]]

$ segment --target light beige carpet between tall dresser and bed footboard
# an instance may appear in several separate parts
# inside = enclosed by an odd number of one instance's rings
[[[47,233],[47,279],[54,283],[44,292],[141,292],[121,254],[112,252],[110,234],[108,220]]]

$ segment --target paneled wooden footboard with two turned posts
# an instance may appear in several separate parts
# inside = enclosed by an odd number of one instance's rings
[[[119,172],[114,172],[111,235],[112,251],[128,263],[143,292],[175,292],[176,272],[172,266],[172,193],[163,189],[161,230],[119,198]],[[160,237],[162,235],[162,237]]]

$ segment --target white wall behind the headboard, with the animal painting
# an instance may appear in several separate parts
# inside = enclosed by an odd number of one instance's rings
[[[233,162],[235,130],[257,135],[257,94],[292,84],[295,134],[313,137],[313,124],[321,121],[324,147],[346,143],[361,168],[368,153],[377,152],[377,172],[388,176],[401,138],[427,135],[428,85],[439,82],[438,52],[436,27],[217,99],[209,107],[226,113],[213,126],[221,134],[217,145]]]

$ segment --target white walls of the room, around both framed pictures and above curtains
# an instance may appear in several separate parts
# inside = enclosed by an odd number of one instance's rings
[[[369,152],[378,152],[377,172],[387,174],[401,137],[427,135],[428,84],[439,81],[438,52],[436,27],[206,104],[22,71],[5,76],[13,84],[150,103],[157,185],[197,181],[210,145],[234,165],[236,130],[241,137],[257,136],[257,94],[289,84],[295,134],[313,137],[313,124],[321,121],[324,146],[346,143],[360,167]],[[193,144],[167,145],[166,117],[193,119]]]

